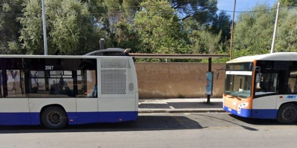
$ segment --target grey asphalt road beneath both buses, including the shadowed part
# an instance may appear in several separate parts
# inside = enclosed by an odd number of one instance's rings
[[[1,148],[280,148],[296,147],[297,124],[228,113],[142,113],[135,122],[0,126]]]

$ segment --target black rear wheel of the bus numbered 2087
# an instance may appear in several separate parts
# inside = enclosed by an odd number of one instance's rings
[[[59,107],[49,107],[42,112],[41,120],[48,129],[62,129],[67,125],[67,114]]]

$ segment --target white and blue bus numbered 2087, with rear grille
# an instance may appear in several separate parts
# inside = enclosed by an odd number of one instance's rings
[[[0,55],[0,125],[61,129],[137,118],[132,57]]]

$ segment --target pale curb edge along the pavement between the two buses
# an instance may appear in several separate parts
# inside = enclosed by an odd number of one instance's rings
[[[227,112],[225,110],[141,110],[138,113]]]

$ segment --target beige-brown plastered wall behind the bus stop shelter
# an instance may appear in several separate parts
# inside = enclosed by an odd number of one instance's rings
[[[135,63],[139,98],[205,98],[205,72],[208,63]],[[212,98],[221,98],[224,90],[224,63],[213,63],[214,72]]]

